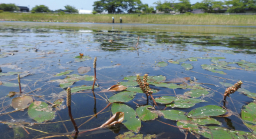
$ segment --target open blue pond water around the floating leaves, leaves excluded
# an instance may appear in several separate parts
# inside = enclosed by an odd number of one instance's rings
[[[10,25],[7,25],[10,24]],[[234,84],[236,81],[243,81],[242,88],[249,92],[255,92],[255,70],[256,67],[248,69],[241,67],[235,62],[241,60],[256,63],[256,34],[253,27],[205,27],[205,26],[157,26],[157,25],[112,25],[112,24],[86,24],[86,25],[48,25],[33,23],[0,23],[0,67],[1,73],[20,72],[22,90],[29,93],[34,101],[43,101],[48,104],[57,99],[65,100],[61,110],[56,110],[55,118],[40,124],[28,116],[27,109],[24,111],[5,114],[14,111],[11,101],[14,97],[7,96],[9,92],[19,92],[17,75],[0,76],[0,134],[3,139],[13,138],[39,138],[49,135],[59,135],[73,131],[73,125],[69,120],[66,105],[66,94],[59,83],[49,82],[55,79],[64,79],[64,76],[54,76],[59,72],[73,70],[70,74],[94,75],[93,59],[97,57],[97,87],[96,99],[90,90],[72,95],[72,114],[79,126],[89,119],[94,112],[99,112],[107,105],[109,99],[118,92],[102,92],[112,85],[123,80],[126,76],[166,76],[167,81],[173,78],[190,77],[197,78],[197,83],[201,87],[208,88],[210,95],[199,97],[208,102],[197,103],[191,108],[171,108],[165,110],[181,110],[190,112],[194,108],[205,105],[223,105],[223,93],[226,87],[219,82]],[[138,41],[139,37],[139,41]],[[135,48],[138,41],[137,49]],[[82,62],[81,59],[74,58],[79,53],[87,56]],[[180,62],[180,64],[169,63],[169,60],[176,61],[181,58],[199,57],[198,61]],[[219,74],[204,70],[201,65],[214,65],[208,57],[224,57],[219,61],[225,61],[226,66],[233,67],[230,70],[216,69],[225,74]],[[158,65],[159,62],[166,62],[165,67]],[[231,63],[234,62],[234,63]],[[193,66],[191,70],[185,70],[181,64],[188,63]],[[224,63],[224,62],[223,62]],[[79,67],[91,67],[91,71],[86,74],[79,74]],[[76,81],[70,87],[81,85],[92,85],[93,81]],[[189,83],[189,82],[188,82]],[[177,83],[181,84],[181,83]],[[173,89],[166,87],[151,88],[159,90],[154,93],[155,98],[175,94],[183,94],[190,89]],[[65,88],[66,89],[66,88]],[[98,92],[98,93],[97,93]],[[38,97],[43,96],[43,97]],[[128,103],[124,103],[134,110],[137,104],[146,105],[144,94],[137,93],[135,98]],[[41,99],[42,98],[42,99]],[[232,100],[232,101],[231,101]],[[226,108],[240,115],[243,105],[252,102],[253,99],[241,92],[232,94],[231,99],[227,99]],[[149,105],[153,101],[149,100]],[[159,104],[156,110],[163,110],[164,104]],[[55,108],[54,108],[55,110]],[[105,109],[103,113],[94,117],[84,124],[79,130],[91,129],[101,126],[111,116],[111,107]],[[230,117],[213,117],[222,123],[224,128],[231,130],[242,130],[250,132],[243,125],[242,120],[233,114]],[[176,121],[165,119],[159,116],[159,121],[176,126]],[[157,120],[142,121],[142,128],[139,133],[143,135],[155,134],[158,139],[183,139],[185,135],[175,127],[160,123]],[[64,122],[61,122],[64,121]],[[29,124],[29,125],[28,125]],[[64,126],[65,125],[65,126]],[[217,125],[210,125],[217,126]],[[27,130],[27,132],[23,129]],[[87,132],[78,138],[102,139],[113,138],[119,134],[129,131],[122,124],[118,128],[109,128]],[[30,134],[28,134],[28,132]],[[46,134],[53,133],[53,134]],[[64,138],[64,137],[55,137]],[[67,138],[67,137],[66,137]],[[196,139],[192,134],[187,135],[187,139]],[[201,139],[204,137],[201,136]]]

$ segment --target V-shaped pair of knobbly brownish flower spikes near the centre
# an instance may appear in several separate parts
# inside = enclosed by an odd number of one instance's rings
[[[150,87],[149,87],[149,83],[147,83],[148,81],[148,74],[144,74],[143,76],[143,80],[141,80],[140,76],[137,75],[137,79],[136,79],[137,83],[139,84],[139,87],[141,88],[141,90],[145,93],[145,94],[152,94],[153,91],[151,91]],[[142,82],[143,81],[143,82]]]

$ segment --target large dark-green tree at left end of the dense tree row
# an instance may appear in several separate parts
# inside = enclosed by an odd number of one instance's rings
[[[99,0],[93,4],[94,11],[101,13],[104,10],[108,13],[120,13],[126,9],[124,0]]]

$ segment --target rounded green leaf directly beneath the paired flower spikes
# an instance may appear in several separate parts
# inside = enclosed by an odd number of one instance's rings
[[[136,109],[136,113],[142,121],[149,121],[158,118],[158,114],[151,112],[148,108],[154,109],[150,105],[140,106]]]

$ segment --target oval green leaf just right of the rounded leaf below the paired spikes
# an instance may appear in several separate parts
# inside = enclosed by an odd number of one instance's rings
[[[160,110],[160,112],[162,112],[162,115],[164,115],[164,117],[166,119],[170,119],[170,120],[190,120],[190,118],[187,118],[185,116],[185,112],[183,111],[179,111],[179,110]]]

